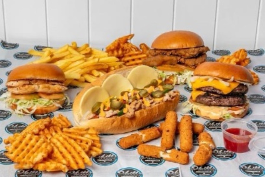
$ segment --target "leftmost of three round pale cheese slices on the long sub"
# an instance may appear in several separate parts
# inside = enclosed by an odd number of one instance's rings
[[[80,100],[81,116],[83,116],[87,111],[91,111],[91,108],[96,102],[103,102],[109,97],[108,92],[100,86],[88,89]]]

